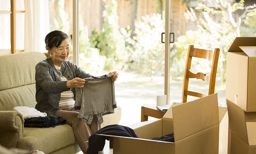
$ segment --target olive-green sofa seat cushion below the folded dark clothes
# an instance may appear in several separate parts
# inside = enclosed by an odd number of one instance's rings
[[[67,124],[50,128],[26,127],[24,137],[18,141],[18,148],[51,153],[75,143],[73,129]]]

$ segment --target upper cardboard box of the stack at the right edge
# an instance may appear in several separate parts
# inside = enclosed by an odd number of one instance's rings
[[[227,52],[226,98],[256,112],[256,37],[236,37]]]

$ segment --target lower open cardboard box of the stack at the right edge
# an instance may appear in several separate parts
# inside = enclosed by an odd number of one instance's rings
[[[227,99],[232,154],[256,153],[256,112],[245,112],[243,108]]]

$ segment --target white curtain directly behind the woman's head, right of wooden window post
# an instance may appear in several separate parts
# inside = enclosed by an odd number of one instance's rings
[[[24,0],[24,52],[46,52],[44,38],[50,32],[48,0]]]

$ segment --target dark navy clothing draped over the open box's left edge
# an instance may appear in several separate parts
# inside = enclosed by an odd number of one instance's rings
[[[121,125],[108,125],[99,129],[96,133],[92,134],[89,137],[89,148],[87,149],[87,152],[86,152],[87,154],[98,153],[98,151],[103,150],[105,145],[105,140],[109,141],[110,139],[110,137],[108,136],[100,136],[96,134],[138,138],[138,136],[135,134],[132,128],[121,126]]]

